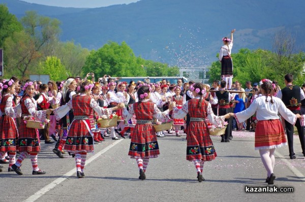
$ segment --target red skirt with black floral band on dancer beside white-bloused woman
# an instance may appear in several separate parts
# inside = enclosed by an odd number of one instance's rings
[[[217,156],[205,121],[190,121],[187,128],[187,160],[214,160]]]

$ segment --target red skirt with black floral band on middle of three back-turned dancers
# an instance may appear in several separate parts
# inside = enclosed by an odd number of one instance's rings
[[[136,124],[131,132],[128,155],[131,158],[157,158],[160,154],[156,130],[151,123]]]

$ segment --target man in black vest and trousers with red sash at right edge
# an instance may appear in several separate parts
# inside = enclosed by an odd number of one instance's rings
[[[301,114],[300,106],[301,100],[305,98],[304,92],[299,86],[292,84],[292,74],[286,74],[284,78],[286,87],[279,91],[277,97],[283,100],[283,103],[292,113]],[[295,126],[297,128],[298,136],[300,139],[302,154],[305,156],[304,127],[301,126],[299,120],[296,120]],[[293,125],[285,120],[285,128],[288,139],[289,157],[290,159],[295,159],[295,153],[293,152]]]

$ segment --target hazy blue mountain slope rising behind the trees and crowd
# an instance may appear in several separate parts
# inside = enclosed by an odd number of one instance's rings
[[[305,47],[301,0],[211,1],[141,0],[129,5],[75,9],[0,0],[17,17],[26,10],[62,21],[61,40],[98,49],[107,41],[126,41],[136,55],[178,66],[208,65],[217,60],[221,39],[234,33],[232,52],[240,48],[269,49],[281,29]]]

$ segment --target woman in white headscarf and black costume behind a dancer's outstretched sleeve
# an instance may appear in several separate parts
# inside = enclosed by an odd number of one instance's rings
[[[62,99],[60,99],[60,106],[66,105],[73,97],[73,95],[76,94],[76,81],[75,79],[68,79],[65,84],[63,85],[63,95]],[[70,123],[72,123],[74,118],[73,109],[71,109],[69,112],[67,112],[66,116],[64,116],[60,121],[62,122],[62,136],[58,140],[58,142],[55,145],[55,148],[53,149],[53,152],[59,157],[64,158],[62,154],[63,147],[67,140],[68,131],[70,128]],[[59,122],[60,122],[59,121]],[[72,155],[73,156],[73,155]]]

